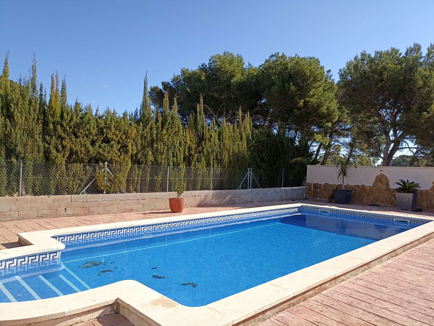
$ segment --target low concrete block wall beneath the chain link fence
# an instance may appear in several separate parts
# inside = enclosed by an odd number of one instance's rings
[[[168,209],[176,192],[0,197],[0,221]],[[306,198],[306,187],[185,191],[186,207]]]

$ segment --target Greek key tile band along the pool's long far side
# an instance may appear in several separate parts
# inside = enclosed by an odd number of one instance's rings
[[[160,224],[139,225],[135,227],[122,227],[111,230],[84,232],[79,234],[64,234],[53,237],[66,247],[81,244],[90,244],[105,240],[113,240],[124,237],[143,236],[146,234],[159,234],[164,232],[187,230],[207,225],[217,225],[237,221],[246,221],[254,218],[267,217],[280,214],[297,213],[300,207],[279,208],[268,211],[259,211],[243,214],[229,214],[214,217],[202,217],[194,220],[165,222]]]

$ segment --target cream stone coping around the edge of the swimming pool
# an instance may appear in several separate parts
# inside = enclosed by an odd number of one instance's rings
[[[0,260],[62,250],[65,245],[52,238],[61,234],[74,234],[118,227],[158,224],[192,218],[242,214],[300,206],[332,208],[341,211],[358,211],[367,214],[434,221],[433,217],[417,214],[400,213],[397,215],[330,205],[304,203],[273,205],[231,211],[161,217],[152,220],[20,233],[18,234],[20,242],[28,245],[0,250]],[[124,314],[133,323],[140,325],[253,325],[433,237],[434,223],[423,224],[400,234],[379,240],[373,244],[352,250],[346,254],[333,257],[240,293],[233,294],[206,306],[183,306],[137,281],[123,280],[66,296],[16,303],[0,303],[0,311],[2,311],[0,323],[1,325],[16,325],[23,323],[44,323],[44,321],[50,319],[72,320],[73,316],[115,305],[116,311]],[[66,322],[65,325],[69,324]]]

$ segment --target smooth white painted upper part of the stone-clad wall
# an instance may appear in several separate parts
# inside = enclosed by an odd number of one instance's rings
[[[375,177],[383,173],[389,178],[390,188],[396,188],[395,181],[405,179],[421,184],[421,190],[430,189],[434,181],[434,168],[409,168],[392,166],[359,166],[348,169],[345,184],[365,184],[372,186]],[[333,165],[308,165],[306,182],[319,184],[339,184],[336,178],[336,167]]]

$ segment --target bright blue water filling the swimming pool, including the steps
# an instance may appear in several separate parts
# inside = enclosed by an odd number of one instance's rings
[[[137,280],[203,306],[410,228],[296,213],[66,247],[57,264],[1,277],[0,302]]]

